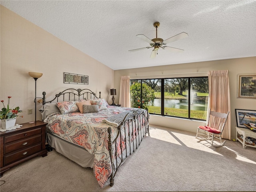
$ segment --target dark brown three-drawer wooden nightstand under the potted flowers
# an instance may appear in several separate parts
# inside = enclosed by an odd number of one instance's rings
[[[47,123],[36,121],[24,123],[21,128],[0,132],[1,168],[0,176],[11,167],[35,156],[47,155],[45,128]]]

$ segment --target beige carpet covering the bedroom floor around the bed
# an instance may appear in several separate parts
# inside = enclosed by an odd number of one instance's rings
[[[213,148],[194,133],[150,126],[140,148],[101,189],[91,168],[58,154],[33,158],[0,178],[1,192],[256,191],[256,148],[227,141]]]

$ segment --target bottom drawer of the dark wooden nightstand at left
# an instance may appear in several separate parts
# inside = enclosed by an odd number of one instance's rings
[[[24,150],[18,151],[16,153],[6,155],[4,156],[4,166],[11,164],[13,162],[16,162],[18,160],[24,159],[32,154],[35,154],[36,152],[41,151],[42,143],[32,146],[30,148],[26,148]]]

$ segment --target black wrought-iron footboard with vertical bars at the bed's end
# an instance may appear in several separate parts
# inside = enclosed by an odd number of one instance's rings
[[[114,185],[114,177],[124,160],[137,150],[147,133],[149,136],[148,112],[145,115],[139,114],[138,111],[125,116],[118,126],[118,134],[113,141],[111,140],[112,130],[108,128],[108,150],[112,164],[110,186]]]

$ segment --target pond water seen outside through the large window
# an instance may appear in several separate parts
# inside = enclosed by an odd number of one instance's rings
[[[161,106],[161,99],[154,99],[152,106]],[[176,109],[188,109],[188,100],[186,99],[164,99],[164,107],[176,108]],[[207,109],[207,102],[195,101],[190,105],[190,110],[201,110]]]

